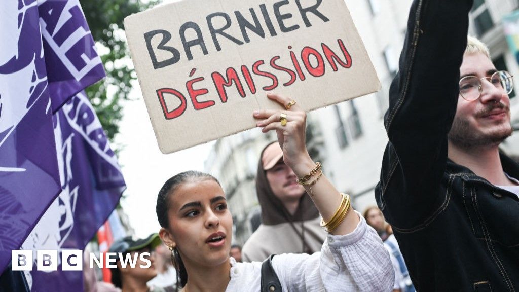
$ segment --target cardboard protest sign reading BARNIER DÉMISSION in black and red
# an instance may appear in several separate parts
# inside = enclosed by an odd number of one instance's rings
[[[255,127],[255,109],[306,111],[380,88],[344,0],[184,0],[125,19],[159,148]]]

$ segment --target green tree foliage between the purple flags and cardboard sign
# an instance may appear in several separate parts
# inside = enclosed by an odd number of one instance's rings
[[[108,139],[119,131],[121,103],[128,100],[136,79],[122,31],[125,17],[157,3],[140,0],[80,0],[94,41],[106,48],[99,50],[106,78],[87,88],[86,92]]]

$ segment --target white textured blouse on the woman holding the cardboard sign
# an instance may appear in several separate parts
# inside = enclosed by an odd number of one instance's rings
[[[380,237],[360,216],[357,228],[346,235],[327,234],[321,251],[313,255],[283,254],[272,266],[283,292],[392,291],[394,271]],[[258,292],[262,262],[230,258],[226,292]]]

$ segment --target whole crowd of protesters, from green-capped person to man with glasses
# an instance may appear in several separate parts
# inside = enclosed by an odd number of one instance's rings
[[[252,114],[278,140],[257,167],[261,224],[243,248],[216,178],[186,171],[159,191],[163,245],[155,272],[120,267],[122,291],[519,290],[519,164],[500,152],[512,134],[510,73],[467,37],[472,0],[414,1],[385,115],[389,142],[378,206],[354,210],[312,160],[297,97]],[[158,260],[160,258],[160,260]],[[169,281],[168,281],[169,280]],[[175,280],[174,282],[172,280]],[[148,283],[148,284],[146,284]],[[168,283],[158,287],[151,284]],[[132,288],[127,288],[132,286]],[[153,287],[153,288],[152,288]]]

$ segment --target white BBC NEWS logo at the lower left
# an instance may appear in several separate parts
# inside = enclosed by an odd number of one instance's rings
[[[121,263],[121,268],[129,266],[134,269],[140,259],[140,268],[151,267],[149,260],[150,253],[99,253],[96,256],[90,253],[88,262],[90,268],[94,265],[99,268],[117,268],[115,262]],[[37,271],[58,271],[60,258],[58,250],[36,250],[36,270]],[[33,250],[12,250],[11,264],[13,271],[32,271],[33,270]],[[83,251],[79,249],[64,249],[61,251],[61,270],[62,271],[83,271]]]

